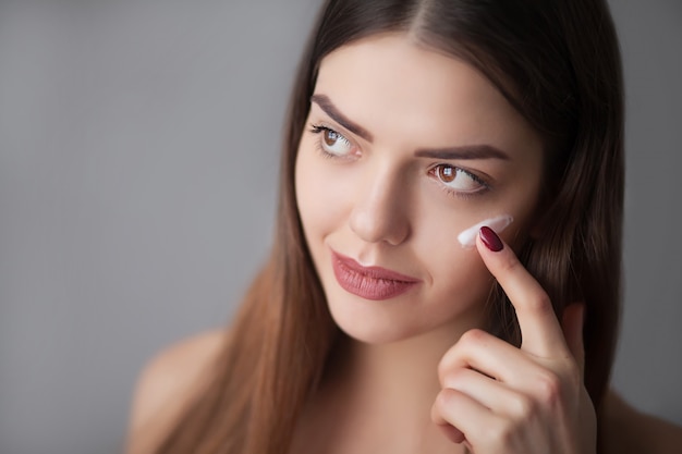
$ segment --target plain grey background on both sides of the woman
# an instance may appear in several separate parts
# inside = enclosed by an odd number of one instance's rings
[[[139,369],[264,259],[318,1],[0,2],[0,453],[121,449]],[[613,0],[628,89],[614,386],[682,424],[682,8]]]

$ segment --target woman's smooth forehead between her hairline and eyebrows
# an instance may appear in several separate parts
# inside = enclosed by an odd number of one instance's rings
[[[315,93],[329,96],[373,135],[398,134],[417,140],[414,145],[498,140],[514,147],[539,140],[478,71],[407,35],[375,35],[329,53],[320,62]]]

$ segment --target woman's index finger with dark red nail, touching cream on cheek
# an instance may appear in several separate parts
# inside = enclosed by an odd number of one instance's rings
[[[565,356],[569,349],[551,300],[511,247],[487,226],[480,229],[476,247],[516,309],[521,348],[539,357]]]

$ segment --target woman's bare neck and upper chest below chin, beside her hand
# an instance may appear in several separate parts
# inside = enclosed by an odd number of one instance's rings
[[[430,419],[440,391],[438,364],[467,329],[448,324],[383,344],[341,335],[292,452],[460,453]]]

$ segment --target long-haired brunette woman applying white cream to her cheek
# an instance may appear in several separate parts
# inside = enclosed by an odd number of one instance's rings
[[[130,451],[674,449],[607,391],[622,110],[601,1],[328,1],[270,260],[150,366]]]

